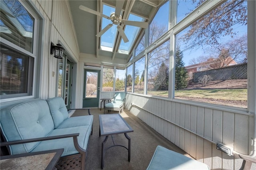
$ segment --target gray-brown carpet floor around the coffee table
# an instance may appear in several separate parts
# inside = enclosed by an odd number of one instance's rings
[[[104,109],[92,108],[90,113],[94,116],[93,133],[90,136],[90,143],[86,157],[86,170],[101,169],[101,145],[105,136],[99,136],[99,115],[104,114]],[[111,111],[111,113],[118,113]],[[72,115],[88,115],[87,111],[77,110]],[[153,128],[149,127],[130,111],[124,110],[121,114],[124,120],[133,128],[134,132],[127,133],[131,138],[131,160],[128,162],[128,150],[124,147],[115,146],[106,151],[104,159],[104,170],[145,170],[150,163],[156,146],[161,145],[175,152],[186,154],[172,142],[161,136]],[[112,135],[115,144],[124,145],[128,148],[128,140],[124,134]],[[109,136],[106,147],[112,146],[111,136]]]

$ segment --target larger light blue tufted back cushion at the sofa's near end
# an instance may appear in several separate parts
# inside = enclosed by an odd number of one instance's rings
[[[1,128],[7,141],[46,137],[54,129],[45,100],[35,100],[1,108]],[[10,146],[11,154],[30,152],[40,142]]]

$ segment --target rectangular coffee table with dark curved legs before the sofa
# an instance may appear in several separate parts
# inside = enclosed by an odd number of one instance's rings
[[[108,140],[108,136],[112,134],[122,134],[128,139],[128,161],[130,162],[131,158],[131,138],[127,135],[128,132],[133,132],[133,129],[128,125],[128,123],[122,118],[120,114],[108,114],[108,115],[99,115],[100,120],[100,136],[106,136],[101,145],[101,168],[104,167],[104,156],[106,150],[113,146],[122,146],[123,145],[112,145],[105,149],[105,143]],[[113,141],[114,143],[114,141]]]

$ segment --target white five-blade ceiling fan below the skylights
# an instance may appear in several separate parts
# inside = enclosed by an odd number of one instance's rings
[[[102,36],[108,29],[110,29],[113,25],[117,25],[117,30],[120,33],[122,39],[124,42],[128,42],[128,38],[124,34],[124,30],[122,29],[122,26],[120,24],[125,24],[125,25],[130,25],[130,26],[136,26],[136,27],[141,27],[141,28],[147,28],[148,27],[148,22],[138,22],[138,21],[131,21],[131,20],[123,20],[122,16],[120,15],[122,11],[122,7],[124,5],[124,1],[122,0],[116,0],[116,10],[110,16],[106,16],[100,12],[94,11],[90,8],[87,8],[86,6],[80,5],[79,9],[84,10],[86,12],[90,12],[91,14],[95,14],[101,17],[104,17],[108,20],[112,21],[112,24],[108,24],[105,28],[103,28],[96,36],[100,37]]]

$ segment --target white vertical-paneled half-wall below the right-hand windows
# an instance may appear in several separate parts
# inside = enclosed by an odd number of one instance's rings
[[[134,105],[131,105],[134,103]],[[216,149],[222,142],[250,154],[252,116],[207,107],[126,94],[126,109],[211,169],[238,170],[242,160]],[[255,166],[252,166],[255,168]]]

